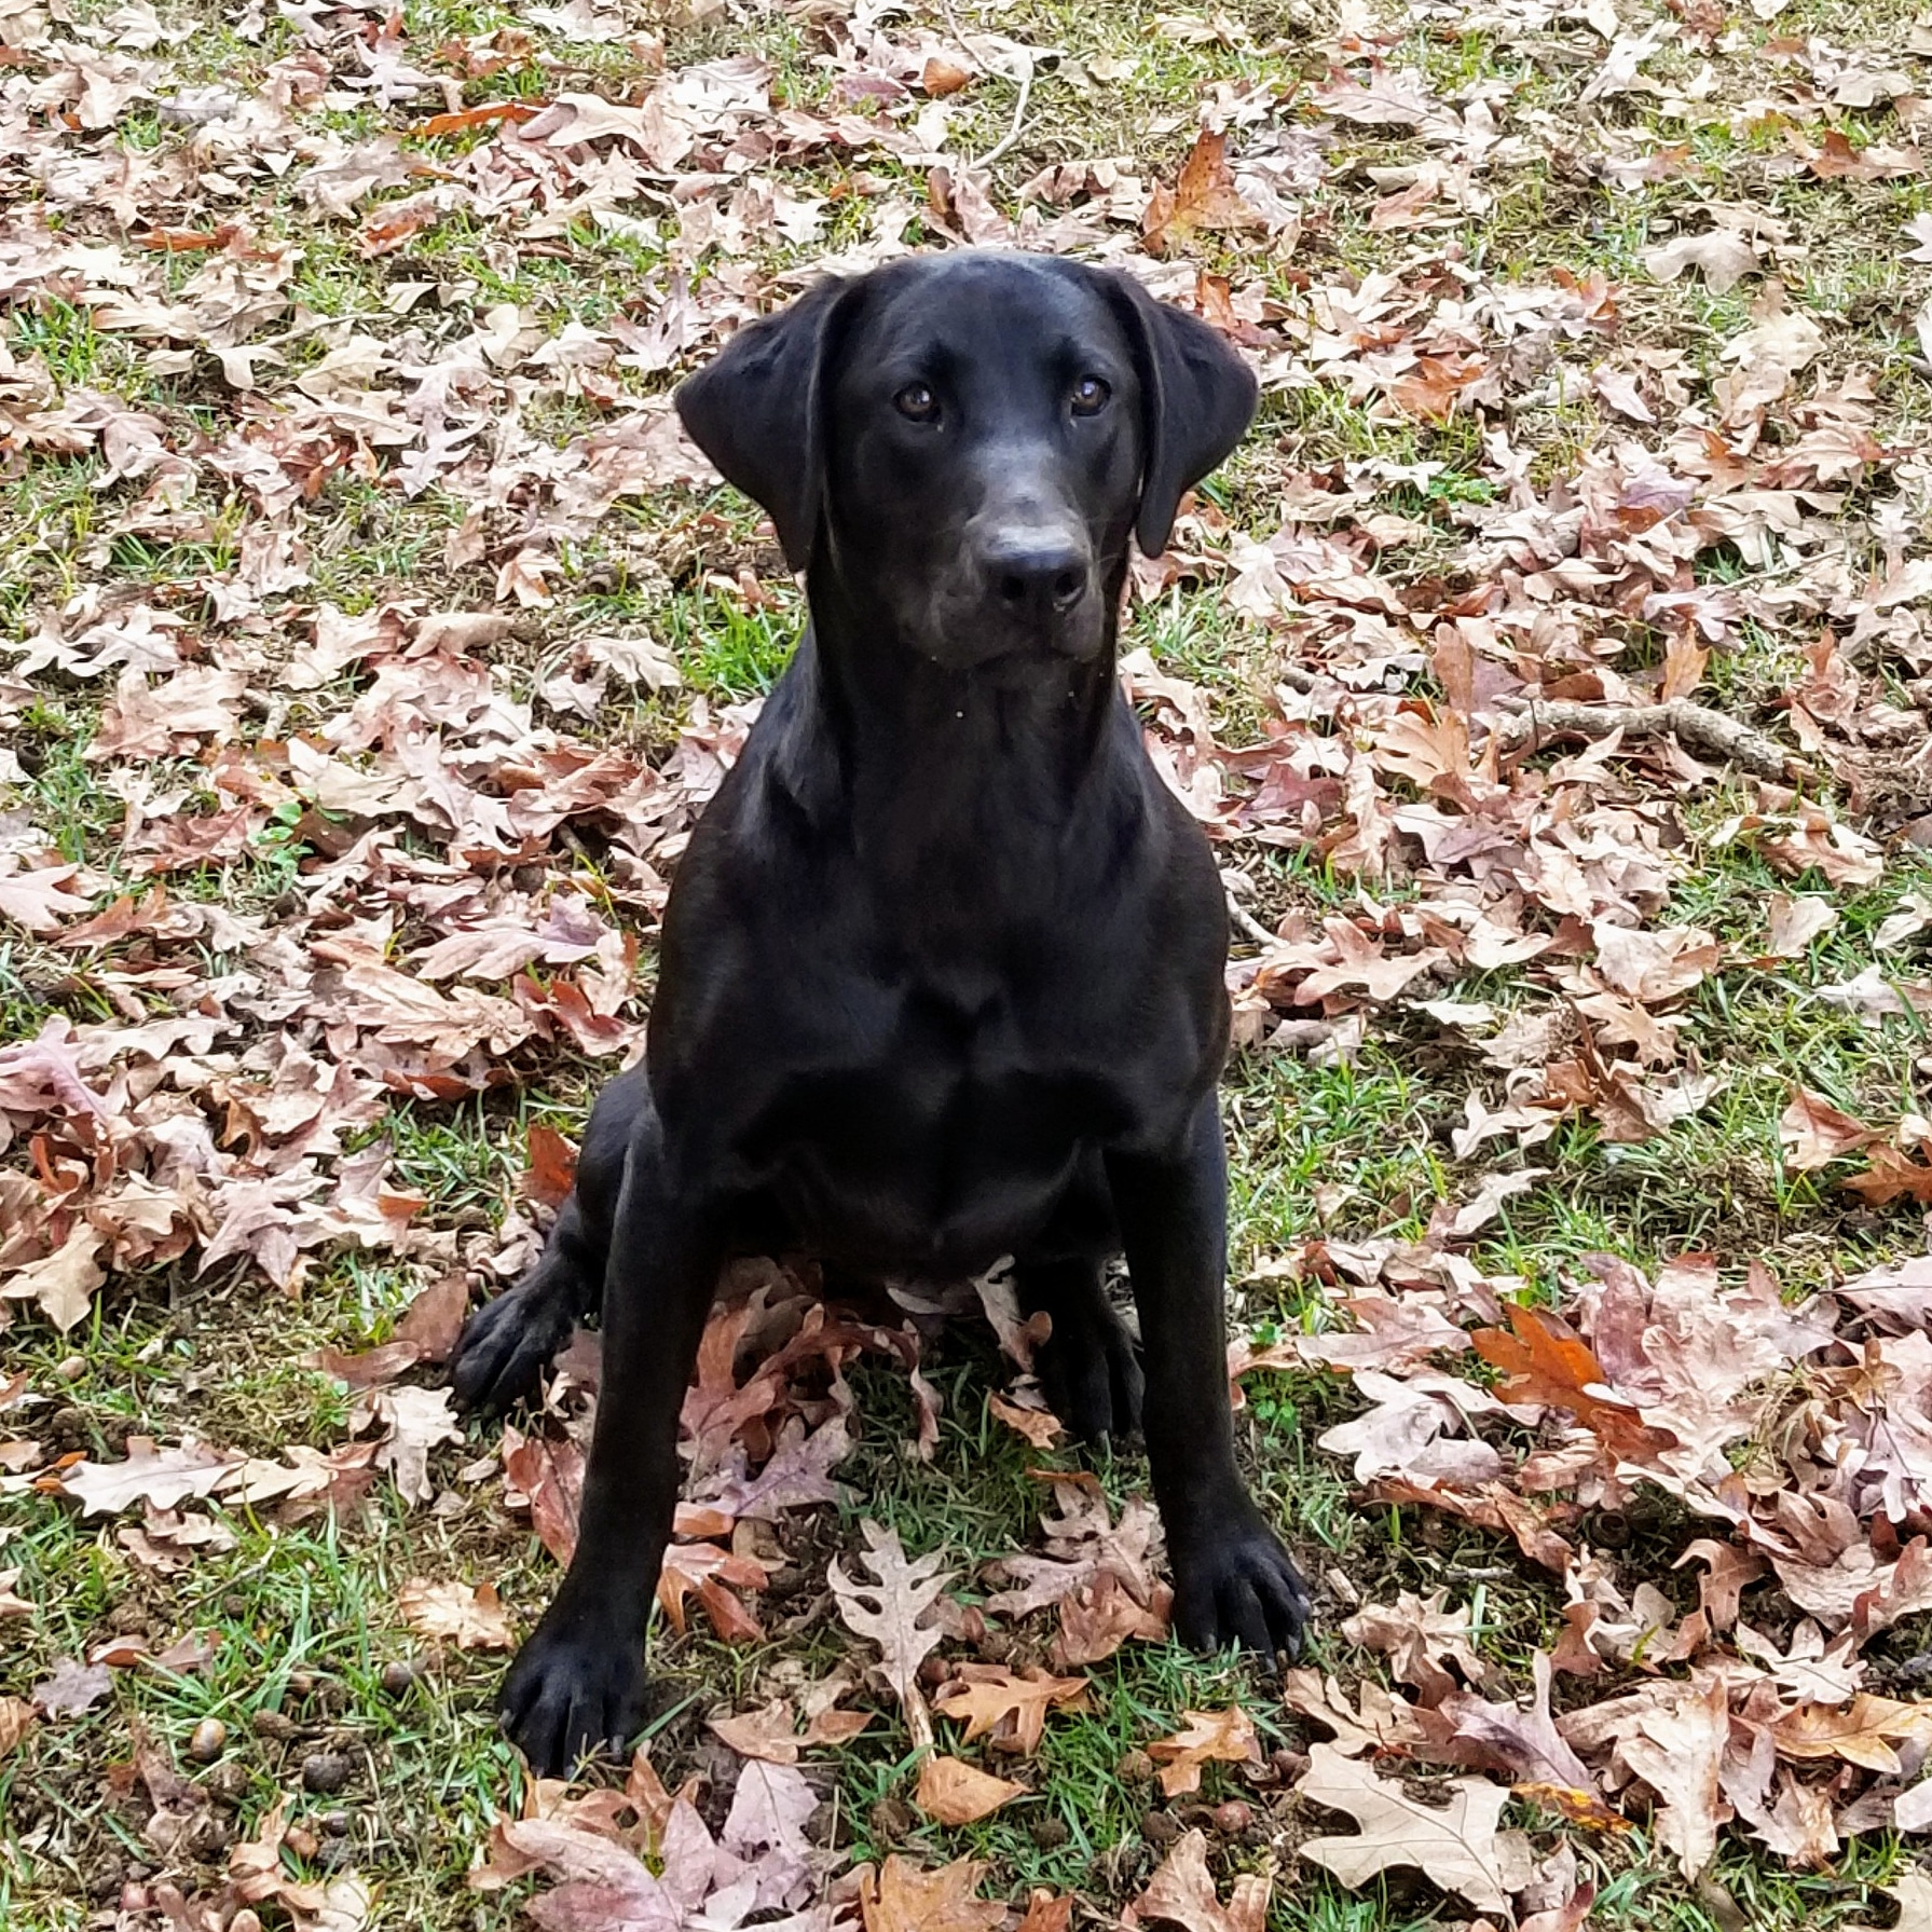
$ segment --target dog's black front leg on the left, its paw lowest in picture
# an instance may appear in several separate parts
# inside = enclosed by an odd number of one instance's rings
[[[603,1378],[578,1549],[518,1652],[498,1708],[531,1766],[622,1754],[643,1723],[643,1631],[678,1501],[678,1410],[717,1287],[713,1217],[674,1200],[655,1117],[639,1121],[611,1235]]]

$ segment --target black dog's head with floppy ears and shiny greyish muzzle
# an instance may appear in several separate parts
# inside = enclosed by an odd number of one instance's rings
[[[949,668],[1094,657],[1134,533],[1240,440],[1254,379],[1130,276],[962,251],[821,282],[678,390],[794,570]]]

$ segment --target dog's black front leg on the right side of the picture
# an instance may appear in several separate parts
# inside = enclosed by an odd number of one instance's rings
[[[1308,1590],[1235,1466],[1227,1395],[1227,1153],[1209,1095],[1169,1155],[1111,1153],[1134,1277],[1153,1497],[1175,1571],[1175,1629],[1196,1650],[1300,1646]]]

